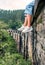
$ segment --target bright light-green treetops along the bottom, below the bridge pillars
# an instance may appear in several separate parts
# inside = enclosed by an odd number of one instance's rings
[[[0,61],[1,65],[31,65],[29,61],[25,61],[23,57],[19,54],[6,53],[3,60]]]

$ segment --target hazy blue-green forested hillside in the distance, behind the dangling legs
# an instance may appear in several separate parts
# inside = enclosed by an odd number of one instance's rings
[[[1,28],[17,29],[24,21],[24,10],[0,10]]]

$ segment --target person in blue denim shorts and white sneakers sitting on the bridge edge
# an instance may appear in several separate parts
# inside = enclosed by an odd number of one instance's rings
[[[25,21],[24,24],[18,29],[18,31],[22,31],[23,33],[32,31],[33,28],[31,26],[31,19],[33,15],[33,9],[34,9],[35,1],[32,1],[26,6],[26,9],[24,11],[25,14]]]

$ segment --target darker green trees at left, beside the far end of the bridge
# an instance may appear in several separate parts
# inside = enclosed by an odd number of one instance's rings
[[[1,39],[1,41],[0,41],[0,50],[3,49],[3,51],[5,53],[10,52],[10,54],[17,52],[17,50],[16,50],[16,42],[7,33],[7,31],[5,31],[5,30],[0,31],[0,39]]]

